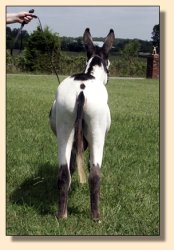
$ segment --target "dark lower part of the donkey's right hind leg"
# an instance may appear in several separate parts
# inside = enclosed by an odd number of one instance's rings
[[[92,219],[97,221],[100,218],[99,196],[100,196],[100,168],[99,165],[93,165],[89,174],[89,189]]]

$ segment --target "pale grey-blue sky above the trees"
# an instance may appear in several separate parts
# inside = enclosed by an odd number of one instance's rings
[[[114,29],[116,38],[151,40],[154,25],[159,24],[159,6],[122,7],[62,7],[62,6],[7,6],[7,13],[34,9],[43,28],[48,26],[52,32],[62,36],[82,36],[89,27],[93,37],[106,37]],[[38,26],[34,19],[24,29],[31,33]],[[19,28],[20,24],[8,25]]]

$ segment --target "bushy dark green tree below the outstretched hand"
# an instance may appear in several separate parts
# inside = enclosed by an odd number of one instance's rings
[[[37,28],[29,37],[25,50],[25,66],[29,71],[52,72],[53,64],[58,67],[60,38],[48,27]]]

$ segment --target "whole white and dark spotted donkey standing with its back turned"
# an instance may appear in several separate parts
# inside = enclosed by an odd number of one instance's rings
[[[86,182],[83,151],[89,147],[89,189],[92,219],[100,219],[100,170],[105,136],[111,125],[106,83],[108,54],[115,40],[111,29],[101,48],[94,46],[89,28],[83,35],[87,51],[85,71],[72,75],[57,88],[50,111],[50,125],[58,141],[58,212],[67,218],[68,191],[77,164],[80,183]]]

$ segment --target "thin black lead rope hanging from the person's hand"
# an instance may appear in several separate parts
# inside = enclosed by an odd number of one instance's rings
[[[29,13],[34,13],[34,9],[29,10]],[[40,30],[41,30],[41,32],[44,34],[44,31],[43,31],[43,28],[42,28],[42,24],[41,24],[40,18],[39,18],[38,16],[36,16],[36,15],[32,15],[32,17],[38,19]],[[20,47],[20,50],[22,49],[22,33],[21,33],[21,32],[22,32],[22,29],[23,29],[23,27],[24,27],[25,24],[26,24],[25,21],[21,24],[21,27],[20,27],[20,29],[19,29],[19,31],[18,31],[16,37],[15,37],[15,40],[14,40],[14,48],[15,48],[15,44],[16,44],[18,38],[19,38],[19,35],[21,34],[21,45],[20,45],[21,47]],[[48,44],[47,44],[46,38],[44,38],[44,39],[45,39],[45,42],[46,42],[46,50],[49,52],[49,51],[50,51],[50,47],[49,47]],[[11,55],[12,55],[12,54],[13,54],[13,49],[11,50]],[[55,75],[56,75],[56,77],[57,77],[58,83],[60,84],[60,78],[59,78],[59,75],[58,75],[58,73],[57,73],[56,67],[55,67],[55,65],[54,65],[54,63],[53,63],[53,61],[52,61],[51,53],[49,53],[49,54],[50,54],[50,57],[51,57],[51,60],[50,60],[50,61],[51,61],[51,67],[52,67],[52,69],[53,69],[53,71],[54,71],[54,73],[55,73]]]

